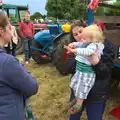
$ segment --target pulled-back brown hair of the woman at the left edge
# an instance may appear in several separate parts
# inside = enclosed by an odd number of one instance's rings
[[[8,17],[5,12],[0,11],[0,27],[5,29],[5,27],[9,24]]]

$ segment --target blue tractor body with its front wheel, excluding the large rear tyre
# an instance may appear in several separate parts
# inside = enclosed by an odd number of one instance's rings
[[[32,43],[32,58],[37,63],[49,62],[52,60],[57,38],[65,33],[62,31],[62,24],[49,24],[48,30],[37,32]],[[54,44],[53,44],[54,43]]]

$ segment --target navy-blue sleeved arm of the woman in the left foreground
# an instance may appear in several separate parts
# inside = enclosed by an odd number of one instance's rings
[[[8,58],[3,66],[3,82],[23,93],[33,95],[38,91],[37,81],[17,59]]]

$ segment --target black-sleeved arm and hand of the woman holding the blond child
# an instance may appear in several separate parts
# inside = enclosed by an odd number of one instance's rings
[[[91,63],[93,64],[97,75],[111,74],[112,68],[114,67],[114,57],[117,47],[107,40],[105,40],[104,45],[105,48],[101,60],[98,59],[97,52],[92,55]]]

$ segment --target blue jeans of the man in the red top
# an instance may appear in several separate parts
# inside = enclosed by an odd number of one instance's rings
[[[24,54],[25,54],[25,61],[29,61],[31,58],[31,44],[32,38],[23,38],[24,40]]]

